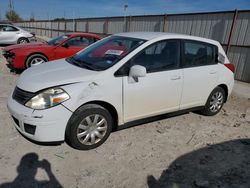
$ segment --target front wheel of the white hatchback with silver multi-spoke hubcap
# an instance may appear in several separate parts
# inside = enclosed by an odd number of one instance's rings
[[[66,128],[66,141],[79,150],[94,149],[107,140],[112,128],[113,119],[107,109],[97,104],[86,104],[71,116]]]

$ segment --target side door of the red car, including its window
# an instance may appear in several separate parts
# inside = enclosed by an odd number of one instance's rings
[[[72,37],[55,48],[54,59],[70,57],[94,42],[92,37]]]

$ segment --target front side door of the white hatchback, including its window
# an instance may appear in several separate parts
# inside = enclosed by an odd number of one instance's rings
[[[123,77],[124,121],[129,122],[179,109],[182,90],[182,70],[179,69],[180,41],[156,42],[132,58],[124,68],[142,65],[146,77],[130,83]]]

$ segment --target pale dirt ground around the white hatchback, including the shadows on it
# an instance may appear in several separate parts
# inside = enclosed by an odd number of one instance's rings
[[[234,93],[214,117],[143,124],[78,151],[35,145],[16,131],[6,102],[17,78],[1,57],[0,187],[250,187],[249,98]]]

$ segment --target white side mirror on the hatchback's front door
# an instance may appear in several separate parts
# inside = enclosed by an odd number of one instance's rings
[[[129,70],[129,83],[138,82],[139,77],[145,77],[147,74],[147,70],[145,67],[141,65],[134,65]]]

